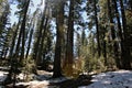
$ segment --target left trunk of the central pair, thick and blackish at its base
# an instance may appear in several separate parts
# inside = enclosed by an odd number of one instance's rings
[[[61,1],[61,4],[57,10],[56,25],[57,25],[57,32],[56,32],[57,37],[56,37],[54,69],[53,69],[54,78],[62,76],[61,59],[62,59],[62,43],[63,43],[63,30],[64,30],[64,1],[63,0]]]

